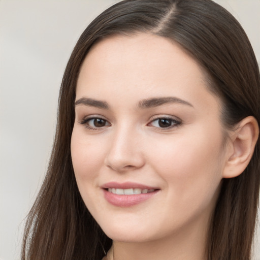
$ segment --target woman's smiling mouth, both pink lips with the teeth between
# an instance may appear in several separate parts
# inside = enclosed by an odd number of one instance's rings
[[[102,186],[105,199],[117,207],[131,207],[152,198],[158,188],[134,182],[109,182]]]

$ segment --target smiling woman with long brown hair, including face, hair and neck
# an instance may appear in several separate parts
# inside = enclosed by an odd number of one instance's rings
[[[249,259],[260,78],[209,0],[126,0],[83,32],[60,89],[23,259]]]

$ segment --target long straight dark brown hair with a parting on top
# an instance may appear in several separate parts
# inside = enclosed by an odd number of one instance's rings
[[[72,167],[70,142],[81,64],[93,44],[114,34],[148,32],[180,44],[208,74],[232,127],[252,115],[260,122],[260,77],[254,52],[237,20],[210,0],[125,0],[85,29],[63,76],[56,136],[48,171],[27,217],[22,259],[101,259],[112,241],[84,205]],[[223,179],[208,234],[210,260],[251,255],[259,194],[259,140],[246,170]],[[104,249],[104,250],[103,250]]]

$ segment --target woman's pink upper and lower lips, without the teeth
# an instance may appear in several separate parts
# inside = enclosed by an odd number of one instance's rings
[[[106,183],[102,186],[103,191],[104,191],[104,196],[105,199],[112,205],[117,206],[117,207],[130,207],[137,205],[139,203],[142,203],[151,197],[153,197],[157,191],[158,188],[156,187],[151,187],[139,183],[134,183],[134,182],[124,182],[124,183],[118,183],[118,182],[109,182]],[[140,193],[140,194],[131,194],[131,195],[126,195],[126,194],[115,194],[108,189],[131,189],[131,188],[137,188],[137,189],[142,189],[142,190],[153,190],[152,192],[149,193]]]

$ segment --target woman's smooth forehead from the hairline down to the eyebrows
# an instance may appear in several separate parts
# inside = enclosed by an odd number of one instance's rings
[[[169,95],[198,102],[204,96],[206,103],[216,102],[198,62],[175,42],[150,34],[112,36],[94,45],[82,64],[76,95],[111,102]]]

